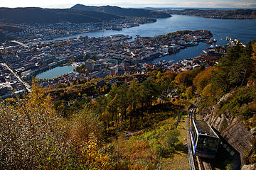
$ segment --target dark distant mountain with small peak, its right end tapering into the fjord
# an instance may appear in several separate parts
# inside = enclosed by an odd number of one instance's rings
[[[134,17],[147,17],[147,18],[168,18],[171,15],[160,12],[152,11],[139,8],[120,8],[118,6],[85,6],[77,4],[72,7],[72,9],[87,10],[87,11],[97,11],[102,13],[109,13],[117,16],[134,16]]]

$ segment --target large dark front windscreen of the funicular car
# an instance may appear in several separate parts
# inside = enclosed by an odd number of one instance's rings
[[[216,152],[218,147],[218,139],[205,135],[199,135],[197,149],[203,152]]]

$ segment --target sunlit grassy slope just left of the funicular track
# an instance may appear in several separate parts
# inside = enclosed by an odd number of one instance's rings
[[[155,113],[155,118],[159,115],[170,115],[166,120],[155,123],[151,128],[140,130],[132,137],[127,137],[127,134],[119,136],[119,162],[120,169],[124,165],[129,164],[132,169],[156,169],[156,164],[161,164],[161,169],[189,169],[187,147],[186,147],[186,115],[183,115],[181,122],[178,124],[179,142],[175,144],[175,150],[170,154],[162,154],[161,147],[164,146],[164,138],[166,132],[175,129],[174,123],[176,118],[174,114],[176,111],[169,111],[164,113]],[[132,134],[132,133],[131,133]],[[113,140],[112,145],[115,147],[117,153],[117,142]]]

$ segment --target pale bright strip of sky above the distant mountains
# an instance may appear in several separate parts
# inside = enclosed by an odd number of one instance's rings
[[[0,7],[70,8],[75,4],[121,7],[256,8],[256,0],[0,0]]]

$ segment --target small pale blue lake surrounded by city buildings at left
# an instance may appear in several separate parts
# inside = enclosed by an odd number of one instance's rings
[[[54,77],[59,77],[63,74],[67,74],[73,72],[75,67],[71,66],[63,66],[63,67],[55,67],[54,69],[49,69],[46,72],[38,74],[36,78],[38,79],[53,79]]]

